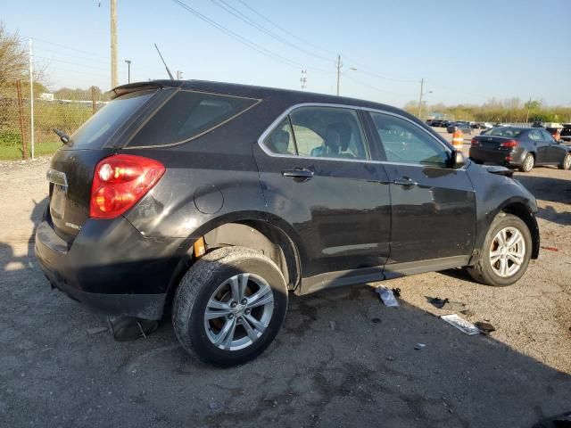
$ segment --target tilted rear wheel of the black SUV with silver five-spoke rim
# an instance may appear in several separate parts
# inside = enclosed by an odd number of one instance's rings
[[[254,307],[256,301],[259,306]],[[215,366],[236,366],[268,348],[286,310],[287,287],[276,264],[260,252],[226,247],[209,252],[186,272],[175,296],[172,324],[191,356]],[[227,330],[231,334],[225,335]]]

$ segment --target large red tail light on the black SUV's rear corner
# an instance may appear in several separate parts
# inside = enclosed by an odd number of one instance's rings
[[[116,154],[95,167],[89,217],[115,218],[135,205],[164,174],[159,161]]]

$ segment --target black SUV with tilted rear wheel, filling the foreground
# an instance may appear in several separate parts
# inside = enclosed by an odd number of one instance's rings
[[[468,267],[509,285],[537,258],[534,197],[384,104],[154,81],[54,154],[36,254],[93,309],[156,320],[219,365],[269,346],[288,292]]]

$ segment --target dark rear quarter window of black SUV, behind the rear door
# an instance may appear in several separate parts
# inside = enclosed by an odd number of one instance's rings
[[[258,100],[178,91],[140,129],[129,146],[182,143],[233,119]]]

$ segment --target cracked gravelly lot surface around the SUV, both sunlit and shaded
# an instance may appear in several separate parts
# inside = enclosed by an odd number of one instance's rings
[[[0,164],[2,426],[525,427],[571,410],[571,171],[517,174],[539,200],[542,246],[557,250],[518,284],[411,276],[385,283],[401,288],[398,309],[371,284],[292,296],[269,350],[221,370],[187,358],[168,319],[147,340],[113,342],[87,333],[103,316],[50,290],[31,241],[47,166]],[[497,331],[468,336],[434,317],[463,308]]]

